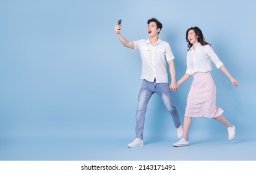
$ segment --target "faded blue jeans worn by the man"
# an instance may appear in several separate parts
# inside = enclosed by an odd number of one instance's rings
[[[149,82],[147,80],[142,81],[140,87],[137,113],[136,113],[136,137],[143,138],[143,129],[145,122],[145,115],[147,110],[147,104],[153,93],[156,93],[160,96],[161,100],[164,103],[164,106],[169,111],[173,117],[173,122],[176,128],[179,128],[181,125],[181,120],[179,118],[179,113],[174,106],[173,98],[171,97],[171,92],[168,83],[156,83]]]

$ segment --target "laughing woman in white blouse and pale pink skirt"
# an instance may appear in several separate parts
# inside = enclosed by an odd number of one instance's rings
[[[210,44],[205,41],[200,28],[189,28],[186,32],[186,40],[189,47],[187,53],[187,71],[177,82],[177,86],[186,82],[191,75],[194,75],[194,80],[187,98],[187,107],[183,123],[183,137],[173,145],[189,145],[188,134],[192,117],[208,117],[218,120],[226,125],[228,128],[228,139],[232,140],[236,135],[236,128],[222,116],[223,109],[216,106],[216,86],[211,77],[211,61],[229,77],[234,87],[238,87],[239,84],[237,80],[229,74]]]

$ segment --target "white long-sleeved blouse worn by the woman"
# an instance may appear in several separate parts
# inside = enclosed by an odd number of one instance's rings
[[[209,72],[211,71],[211,61],[215,64],[217,69],[220,69],[223,62],[215,54],[209,44],[202,46],[198,43],[195,49],[190,48],[187,53],[187,71],[186,74],[193,75],[196,72]]]

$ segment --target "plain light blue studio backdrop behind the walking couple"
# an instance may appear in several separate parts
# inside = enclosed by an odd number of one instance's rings
[[[245,1],[0,1],[1,160],[255,160],[256,2]],[[158,96],[148,104],[142,148],[135,137],[139,51],[127,40],[148,38],[147,20],[163,23],[177,80],[186,72],[186,30],[200,27],[239,81],[234,88],[213,65],[217,104],[236,125],[193,119],[191,145],[179,140]],[[192,78],[172,93],[183,121]]]

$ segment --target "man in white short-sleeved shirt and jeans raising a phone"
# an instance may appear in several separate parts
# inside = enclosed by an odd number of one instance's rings
[[[139,49],[142,59],[142,85],[139,91],[139,99],[136,113],[136,138],[128,144],[128,147],[143,146],[143,129],[147,104],[153,93],[162,99],[164,106],[173,117],[173,122],[177,128],[177,137],[181,138],[183,129],[179,113],[173,103],[170,88],[177,91],[176,72],[174,66],[174,56],[169,43],[160,40],[158,37],[163,27],[157,19],[148,20],[147,40],[128,41],[121,35],[121,24],[116,25],[114,30],[121,43],[127,48]],[[168,85],[168,74],[166,61],[169,64],[171,74],[171,85]]]

